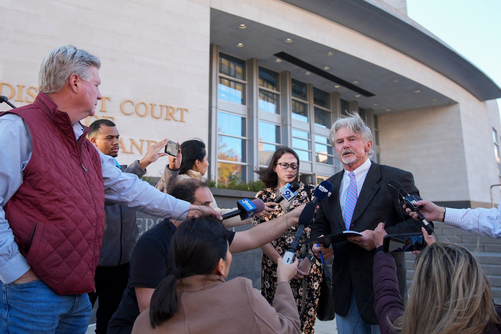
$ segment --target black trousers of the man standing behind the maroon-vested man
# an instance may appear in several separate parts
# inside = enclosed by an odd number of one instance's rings
[[[122,294],[129,279],[130,262],[116,267],[97,267],[94,281],[96,292],[89,293],[89,299],[94,307],[97,297],[99,305],[96,311],[96,333],[106,334],[108,322],[122,300]]]

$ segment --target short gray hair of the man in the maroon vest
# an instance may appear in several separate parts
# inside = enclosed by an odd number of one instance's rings
[[[38,74],[40,92],[60,92],[72,74],[77,74],[85,81],[92,79],[90,67],[99,70],[101,61],[85,50],[73,45],[59,47],[45,56]]]

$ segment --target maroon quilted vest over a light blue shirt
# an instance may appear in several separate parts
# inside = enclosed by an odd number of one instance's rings
[[[28,124],[33,153],[4,210],[35,273],[59,294],[94,290],[104,231],[104,185],[96,148],[77,142],[67,113],[44,93],[13,109]]]

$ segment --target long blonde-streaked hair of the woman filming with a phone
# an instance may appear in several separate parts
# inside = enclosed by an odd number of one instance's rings
[[[401,334],[476,334],[489,322],[500,323],[478,261],[461,245],[435,242],[417,256],[405,311],[391,326]]]

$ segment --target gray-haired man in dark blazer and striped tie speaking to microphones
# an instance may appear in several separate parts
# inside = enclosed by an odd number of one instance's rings
[[[389,180],[400,182],[411,195],[419,198],[414,177],[404,170],[370,161],[372,132],[358,113],[339,118],[332,126],[330,142],[336,149],[344,169],[331,176],[332,195],[321,202],[317,218],[311,226],[312,238],[344,230],[358,231],[364,236],[349,237],[332,244],[331,249],[315,245],[330,257],[334,253],[334,303],[338,333],[380,333],[374,313],[372,265],[374,240],[372,232],[385,217],[388,234],[420,231],[419,222],[409,219],[387,189]],[[405,220],[406,219],[406,220]],[[328,247],[328,245],[325,245]],[[407,295],[403,253],[394,255],[402,298]]]

